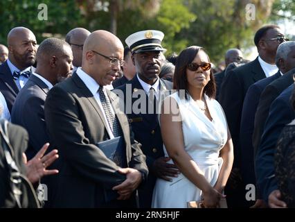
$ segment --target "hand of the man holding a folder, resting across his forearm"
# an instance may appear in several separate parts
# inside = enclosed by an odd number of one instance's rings
[[[140,185],[141,183],[141,172],[132,168],[122,168],[118,169],[119,173],[126,175],[126,180],[122,182],[120,185],[113,187],[113,190],[118,191],[120,196],[118,200],[126,200],[128,199],[132,192]]]

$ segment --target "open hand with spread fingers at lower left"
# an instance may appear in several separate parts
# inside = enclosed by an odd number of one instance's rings
[[[46,170],[46,167],[50,166],[58,158],[57,150],[53,150],[44,155],[48,146],[48,143],[44,144],[35,157],[28,162],[26,160],[26,154],[23,153],[24,163],[26,165],[26,176],[32,184],[38,182],[43,176],[58,173],[57,169]]]

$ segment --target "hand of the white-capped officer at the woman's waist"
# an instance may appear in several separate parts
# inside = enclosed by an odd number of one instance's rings
[[[160,157],[157,160],[154,160],[152,164],[152,172],[163,180],[172,181],[169,177],[177,178],[179,170],[175,164],[168,164],[167,162],[171,160],[170,157]]]

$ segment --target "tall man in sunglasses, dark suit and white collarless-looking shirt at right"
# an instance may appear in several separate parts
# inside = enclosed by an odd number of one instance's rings
[[[240,176],[240,121],[242,117],[242,105],[248,88],[258,80],[276,74],[278,68],[275,65],[276,49],[285,41],[280,28],[275,25],[263,26],[254,37],[259,56],[256,60],[241,67],[229,71],[222,83],[220,92],[220,104],[224,108],[229,130],[233,138],[235,160],[233,162],[232,176],[226,187],[229,206],[244,207],[245,187]],[[231,186],[237,181],[238,187]],[[231,187],[231,188],[230,188]],[[233,200],[231,200],[233,198]]]

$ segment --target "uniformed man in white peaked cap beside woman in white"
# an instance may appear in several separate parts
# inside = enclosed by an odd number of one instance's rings
[[[140,206],[145,208],[151,207],[156,179],[170,180],[170,176],[178,173],[174,164],[166,163],[170,158],[164,157],[157,112],[161,101],[172,89],[172,83],[159,78],[163,36],[160,31],[140,31],[127,37],[125,42],[132,52],[136,76],[114,91],[119,95],[123,92],[125,113],[131,122],[134,137],[143,145],[141,149],[147,157],[150,174],[145,187],[138,190]],[[138,105],[138,101],[143,104]]]

